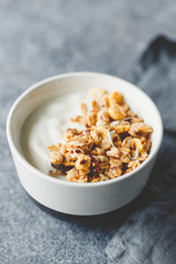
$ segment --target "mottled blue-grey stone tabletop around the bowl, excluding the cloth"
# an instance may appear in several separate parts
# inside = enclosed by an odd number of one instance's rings
[[[176,37],[174,0],[0,1],[0,263],[107,263],[131,208],[96,218],[53,215],[21,187],[6,139],[8,111],[29,86],[76,70],[134,79],[152,38]],[[43,209],[43,210],[42,210]]]

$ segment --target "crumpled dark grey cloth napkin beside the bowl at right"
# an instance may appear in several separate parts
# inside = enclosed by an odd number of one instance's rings
[[[158,107],[164,141],[133,212],[106,248],[109,263],[176,263],[176,43],[158,36],[134,70],[134,82]]]

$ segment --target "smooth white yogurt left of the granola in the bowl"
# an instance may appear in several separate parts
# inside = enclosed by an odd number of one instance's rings
[[[48,172],[47,146],[64,143],[62,134],[66,129],[84,129],[70,122],[70,118],[80,114],[80,102],[88,101],[86,96],[79,91],[51,99],[26,119],[21,132],[21,147],[25,158],[35,168]]]

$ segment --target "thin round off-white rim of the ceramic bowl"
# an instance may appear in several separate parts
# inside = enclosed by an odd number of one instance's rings
[[[114,78],[120,80],[121,82],[123,82],[124,85],[130,85],[134,90],[138,90],[139,92],[141,92],[146,100],[150,101],[151,105],[153,105],[153,108],[155,109],[155,114],[157,116],[157,125],[160,128],[160,133],[158,133],[158,143],[155,146],[155,148],[153,150],[152,153],[150,153],[148,157],[135,169],[133,169],[130,173],[127,173],[118,178],[113,178],[110,180],[105,180],[105,182],[98,182],[98,183],[73,183],[73,182],[66,182],[66,180],[61,180],[58,178],[55,177],[50,177],[47,174],[42,173],[41,170],[38,170],[37,168],[35,168],[34,166],[32,166],[24,156],[21,155],[21,153],[19,152],[19,150],[16,148],[13,139],[12,139],[12,132],[11,132],[11,121],[13,118],[13,112],[15,111],[15,109],[18,108],[19,103],[28,96],[30,95],[32,91],[34,91],[35,89],[37,89],[38,87],[46,85],[51,81],[57,80],[57,79],[63,79],[63,78],[68,78],[68,77],[82,77],[82,76],[98,76],[98,77],[107,77],[107,78]],[[61,74],[61,75],[56,75],[50,78],[46,78],[44,80],[37,81],[36,84],[32,85],[30,88],[28,88],[25,91],[23,91],[18,98],[16,100],[13,102],[8,118],[7,118],[7,138],[8,138],[8,142],[11,148],[11,152],[15,153],[16,157],[20,160],[20,162],[28,167],[35,176],[38,176],[41,178],[43,178],[44,180],[48,180],[58,185],[63,185],[63,186],[69,186],[69,187],[84,187],[84,188],[89,188],[89,187],[99,187],[99,186],[105,186],[105,185],[111,185],[121,180],[124,180],[129,177],[132,177],[134,174],[136,174],[139,170],[141,170],[142,168],[144,168],[152,160],[153,157],[157,154],[161,144],[162,144],[162,140],[163,140],[163,122],[162,122],[162,118],[161,118],[161,113],[156,107],[156,105],[153,102],[153,100],[140,88],[138,88],[135,85],[133,85],[130,81],[127,81],[122,78],[119,78],[117,76],[112,76],[112,75],[108,75],[108,74],[102,74],[102,73],[94,73],[94,72],[76,72],[76,73],[67,73],[67,74]]]

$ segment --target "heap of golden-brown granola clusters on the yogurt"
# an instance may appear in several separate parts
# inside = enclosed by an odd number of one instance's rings
[[[151,150],[152,128],[132,112],[119,91],[90,91],[91,110],[80,105],[81,116],[73,122],[85,130],[67,129],[65,144],[50,146],[52,176],[66,175],[76,183],[120,177],[142,164]]]

